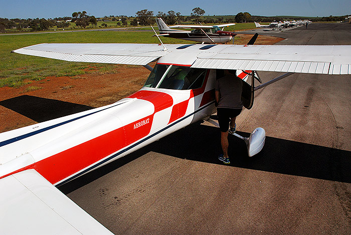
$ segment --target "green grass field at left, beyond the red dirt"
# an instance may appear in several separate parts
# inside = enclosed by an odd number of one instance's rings
[[[253,23],[238,24],[235,29],[251,28]],[[254,27],[254,26],[253,26]],[[146,30],[151,28],[146,28]],[[233,31],[233,27],[225,29]],[[71,63],[34,56],[19,55],[11,51],[41,43],[159,43],[153,32],[89,31],[52,34],[27,34],[0,36],[0,87],[21,87],[31,81],[49,76],[74,77],[89,73],[114,73],[117,65]],[[189,44],[190,41],[162,38],[164,44]],[[241,44],[236,38],[236,44]]]

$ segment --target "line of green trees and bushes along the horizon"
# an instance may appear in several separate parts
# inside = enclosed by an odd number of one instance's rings
[[[167,13],[158,12],[156,15],[152,11],[147,9],[136,12],[135,17],[127,16],[105,16],[103,18],[97,19],[94,16],[88,16],[85,11],[74,12],[72,17],[60,17],[54,19],[7,19],[0,18],[0,32],[5,33],[6,29],[16,29],[17,31],[22,31],[24,29],[30,31],[45,31],[50,30],[53,27],[57,28],[68,28],[70,27],[70,22],[75,23],[77,27],[86,28],[89,25],[92,27],[97,26],[98,21],[104,22],[117,22],[116,26],[131,26],[137,25],[154,25],[155,18],[162,18],[167,25],[184,24],[184,23],[195,23],[195,24],[223,24],[223,23],[248,23],[248,22],[273,22],[273,21],[291,21],[291,20],[310,20],[312,22],[316,21],[344,21],[348,16],[329,16],[329,17],[314,17],[306,19],[303,17],[262,17],[262,16],[251,16],[250,13],[238,13],[235,16],[204,16],[205,10],[201,8],[194,8],[190,16],[182,16],[179,12],[168,11]],[[107,27],[106,23],[102,24],[103,27]]]

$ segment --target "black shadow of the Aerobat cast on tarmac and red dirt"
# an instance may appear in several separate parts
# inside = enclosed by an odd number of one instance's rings
[[[37,122],[92,109],[85,105],[28,95],[0,101],[0,105]],[[245,137],[250,135],[238,133]],[[263,150],[248,157],[243,140],[230,135],[229,142],[231,163],[228,167],[351,183],[351,151],[266,137]],[[69,193],[151,151],[182,159],[222,164],[217,159],[221,153],[219,129],[198,122],[72,180],[59,189]]]

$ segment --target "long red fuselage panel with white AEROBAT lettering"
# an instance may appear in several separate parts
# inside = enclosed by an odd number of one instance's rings
[[[153,114],[45,158],[35,169],[55,184],[148,135],[152,119]]]

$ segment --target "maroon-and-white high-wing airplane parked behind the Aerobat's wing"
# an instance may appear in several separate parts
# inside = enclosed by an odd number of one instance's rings
[[[214,26],[201,25],[176,25],[168,27],[161,18],[156,19],[159,35],[167,38],[176,38],[204,43],[226,43],[233,39],[236,35],[234,32],[223,31],[224,27],[233,26],[235,24],[224,24]],[[194,29],[193,31],[173,30]],[[222,30],[220,29],[222,28]]]

